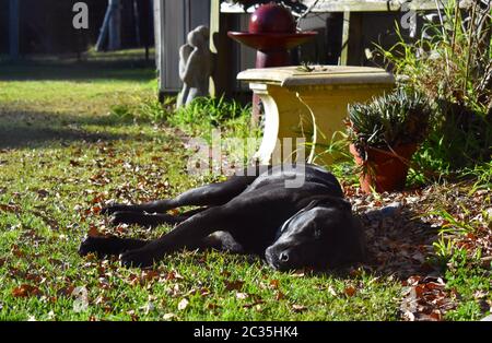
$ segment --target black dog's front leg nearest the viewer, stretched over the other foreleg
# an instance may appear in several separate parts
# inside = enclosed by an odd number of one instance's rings
[[[199,246],[200,241],[215,230],[226,229],[229,211],[223,206],[208,209],[183,222],[175,229],[144,247],[121,255],[121,263],[130,267],[150,267],[164,255],[184,248]]]

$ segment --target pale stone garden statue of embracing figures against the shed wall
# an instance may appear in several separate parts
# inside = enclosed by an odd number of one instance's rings
[[[183,81],[183,90],[176,107],[188,105],[198,96],[209,95],[209,78],[212,74],[209,35],[209,28],[200,25],[188,34],[188,43],[179,49],[179,78]]]

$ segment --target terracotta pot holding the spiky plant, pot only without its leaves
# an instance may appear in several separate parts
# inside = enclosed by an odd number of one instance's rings
[[[417,151],[417,144],[405,144],[393,147],[395,151],[370,147],[366,152],[367,159],[359,155],[355,146],[350,144],[350,152],[355,157],[355,163],[363,166],[364,172],[360,177],[361,189],[371,193],[402,190],[409,169],[408,161]]]

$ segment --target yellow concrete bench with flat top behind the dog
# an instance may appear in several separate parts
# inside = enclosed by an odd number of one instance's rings
[[[298,152],[306,144],[295,143],[293,139],[304,137],[306,142],[316,144],[316,149],[308,151],[308,157],[320,156],[323,163],[329,164],[332,157],[319,153],[331,142],[333,132],[344,129],[348,105],[366,102],[395,84],[393,74],[378,68],[316,66],[312,69],[248,69],[237,75],[238,80],[249,82],[265,107],[263,138],[256,154],[261,163],[288,159],[289,141],[292,151],[301,156]]]

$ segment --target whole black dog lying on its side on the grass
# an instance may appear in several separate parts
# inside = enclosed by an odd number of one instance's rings
[[[151,241],[89,237],[79,252],[122,253],[124,264],[148,267],[165,253],[220,243],[225,249],[265,256],[278,270],[332,268],[364,258],[364,235],[359,220],[343,200],[333,175],[314,165],[288,169],[278,166],[259,176],[248,176],[258,175],[251,172],[255,170],[189,190],[175,199],[105,208],[103,213],[113,214],[115,224],[178,225]],[[285,182],[300,177],[304,178],[301,187],[285,187]],[[180,215],[165,214],[184,205],[207,208]]]

